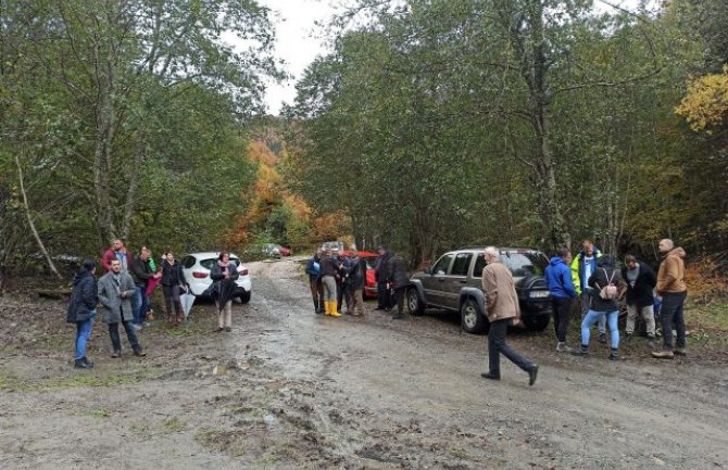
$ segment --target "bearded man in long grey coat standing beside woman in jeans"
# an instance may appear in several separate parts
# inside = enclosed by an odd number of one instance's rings
[[[103,321],[109,325],[109,335],[114,352],[111,357],[122,355],[122,341],[118,336],[118,323],[124,326],[126,336],[135,356],[146,356],[141,351],[137,334],[131,326],[134,310],[131,308],[131,298],[137,287],[128,272],[122,271],[122,264],[118,259],[112,259],[111,269],[99,279],[99,302],[102,306]]]

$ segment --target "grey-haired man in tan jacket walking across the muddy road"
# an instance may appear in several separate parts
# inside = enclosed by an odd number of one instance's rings
[[[511,359],[516,366],[528,372],[528,384],[536,382],[539,367],[524,358],[516,350],[505,343],[505,333],[509,325],[518,325],[520,308],[518,296],[513,285],[513,276],[509,268],[499,259],[495,246],[488,246],[485,251],[486,263],[482,269],[482,290],[486,293],[486,308],[488,309],[488,363],[490,370],[480,376],[486,379],[501,380],[500,354]]]

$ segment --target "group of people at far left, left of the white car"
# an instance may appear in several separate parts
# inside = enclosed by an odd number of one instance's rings
[[[109,328],[113,358],[122,355],[120,325],[126,331],[134,355],[146,356],[137,332],[149,326],[147,320],[151,319],[149,314],[152,310],[150,294],[156,283],[162,284],[164,292],[167,322],[176,326],[184,319],[179,296],[188,287],[181,265],[171,251],[164,253],[161,266],[158,267],[147,246],[141,247],[138,256],[133,256],[124,242],[117,239],[103,253],[101,266],[104,274],[97,281],[97,263],[93,259],[85,261],[73,281],[66,320],[76,325],[76,368],[93,367],[93,363],[86,357],[86,345],[91,334],[97,306],[100,306],[103,321]]]

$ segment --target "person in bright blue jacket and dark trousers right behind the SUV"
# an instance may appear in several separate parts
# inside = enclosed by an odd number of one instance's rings
[[[572,252],[561,247],[556,250],[556,256],[551,258],[545,269],[545,278],[551,293],[553,307],[553,328],[556,333],[556,351],[570,353],[573,350],[566,345],[566,331],[568,331],[568,316],[572,310],[572,302],[577,297],[574,280],[572,279]]]

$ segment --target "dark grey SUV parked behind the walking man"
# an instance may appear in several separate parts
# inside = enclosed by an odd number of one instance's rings
[[[484,250],[477,246],[448,252],[432,267],[413,275],[406,293],[410,312],[422,315],[426,307],[460,312],[465,331],[488,331],[481,288]],[[551,318],[551,296],[543,278],[549,259],[531,249],[500,249],[500,259],[513,274],[524,326],[542,331]]]

